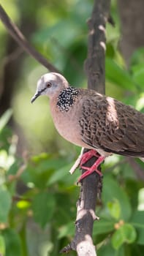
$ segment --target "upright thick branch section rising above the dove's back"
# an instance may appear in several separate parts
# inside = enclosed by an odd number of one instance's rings
[[[110,0],[95,0],[91,19],[88,20],[88,58],[85,69],[88,88],[105,94],[105,24],[109,16]]]

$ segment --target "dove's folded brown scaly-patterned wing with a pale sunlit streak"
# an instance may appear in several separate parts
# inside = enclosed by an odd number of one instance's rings
[[[82,140],[107,152],[144,157],[144,114],[113,98],[87,93],[79,120]]]

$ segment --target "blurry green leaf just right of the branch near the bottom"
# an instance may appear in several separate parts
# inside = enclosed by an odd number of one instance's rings
[[[100,219],[94,222],[94,236],[99,234],[110,233],[114,230],[114,222]]]

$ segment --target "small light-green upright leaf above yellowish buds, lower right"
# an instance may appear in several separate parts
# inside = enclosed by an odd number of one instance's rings
[[[107,203],[107,208],[110,211],[110,215],[115,218],[115,219],[119,219],[120,218],[120,214],[121,214],[121,206],[120,203],[118,202],[118,200],[113,200],[111,202]]]

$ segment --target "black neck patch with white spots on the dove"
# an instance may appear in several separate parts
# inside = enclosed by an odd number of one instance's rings
[[[57,107],[59,108],[59,110],[61,110],[62,112],[69,111],[69,108],[72,107],[72,105],[74,104],[78,94],[79,90],[73,87],[68,87],[67,89],[61,91],[58,96],[57,102]]]

